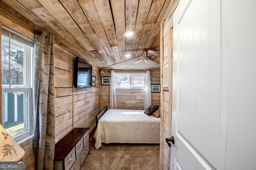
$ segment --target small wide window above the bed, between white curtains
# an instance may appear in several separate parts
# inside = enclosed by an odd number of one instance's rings
[[[145,88],[146,74],[116,73],[116,88]]]

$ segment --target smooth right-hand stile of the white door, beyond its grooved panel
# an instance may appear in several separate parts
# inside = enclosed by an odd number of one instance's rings
[[[222,2],[222,44],[229,65],[224,68],[228,69],[228,100],[224,106],[228,112],[227,147],[223,161],[227,170],[256,169],[255,6],[255,0]]]

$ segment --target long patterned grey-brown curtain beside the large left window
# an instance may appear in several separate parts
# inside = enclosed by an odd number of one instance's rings
[[[40,34],[40,35],[38,35]],[[35,135],[33,152],[38,170],[53,170],[55,148],[54,35],[35,35],[33,106]]]

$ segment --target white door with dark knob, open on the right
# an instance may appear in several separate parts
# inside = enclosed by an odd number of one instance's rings
[[[255,7],[255,0],[180,0],[171,170],[256,169]]]

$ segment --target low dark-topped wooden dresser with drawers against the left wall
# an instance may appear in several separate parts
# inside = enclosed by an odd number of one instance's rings
[[[74,128],[55,144],[54,170],[79,170],[89,151],[89,128]]]

